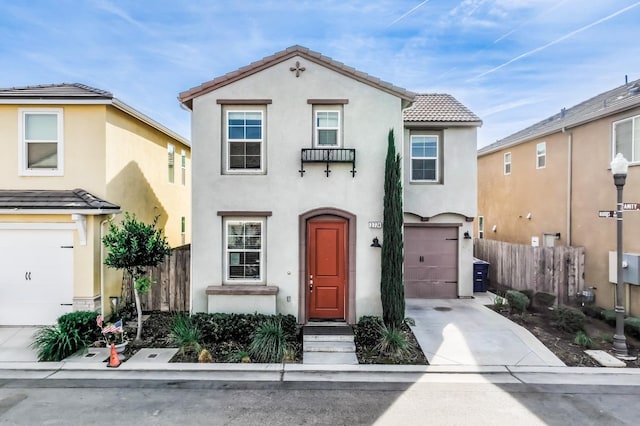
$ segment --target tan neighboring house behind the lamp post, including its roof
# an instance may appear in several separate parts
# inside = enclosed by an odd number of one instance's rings
[[[640,203],[640,80],[599,94],[478,151],[479,238],[585,248],[585,286],[612,308],[616,210],[610,170],[621,152],[630,167],[627,203]],[[640,253],[640,211],[626,211],[624,252]],[[615,268],[615,261],[614,261]],[[611,279],[610,279],[611,278]],[[627,286],[627,312],[640,315],[640,287]]]

